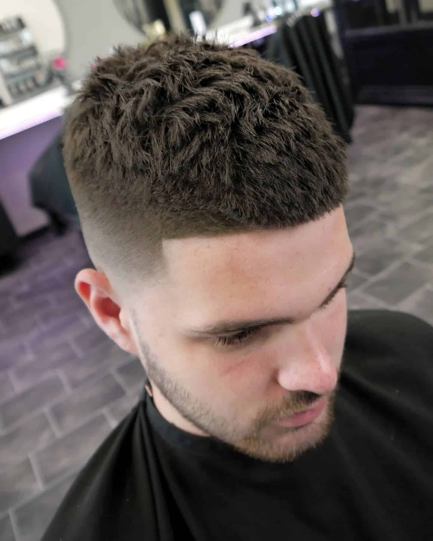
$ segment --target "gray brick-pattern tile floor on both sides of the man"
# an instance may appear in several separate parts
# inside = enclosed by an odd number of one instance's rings
[[[433,324],[433,109],[357,107],[345,204],[349,307]],[[73,288],[81,236],[48,232],[0,278],[0,540],[37,541],[77,472],[136,403],[140,362]]]

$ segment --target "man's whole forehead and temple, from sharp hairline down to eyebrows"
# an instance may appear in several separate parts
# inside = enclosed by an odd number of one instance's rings
[[[166,242],[166,280],[143,292],[143,325],[182,329],[313,308],[345,272],[352,246],[344,214],[301,227]]]

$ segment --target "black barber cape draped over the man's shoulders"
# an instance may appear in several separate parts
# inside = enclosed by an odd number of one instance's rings
[[[433,539],[433,327],[349,312],[334,413],[318,447],[265,463],[176,428],[145,392],[42,541]]]

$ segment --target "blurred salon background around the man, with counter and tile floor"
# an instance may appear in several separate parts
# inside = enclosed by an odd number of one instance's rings
[[[177,29],[301,76],[347,142],[349,308],[433,324],[433,0],[0,3],[0,541],[37,541],[132,408],[139,359],[74,290],[91,266],[60,151],[97,57]]]

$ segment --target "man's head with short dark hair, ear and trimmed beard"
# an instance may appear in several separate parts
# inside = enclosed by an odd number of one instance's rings
[[[76,290],[161,413],[265,460],[322,441],[352,248],[345,145],[298,76],[186,36],[120,48],[84,80],[64,159],[95,265]],[[314,423],[275,424],[320,397]]]

